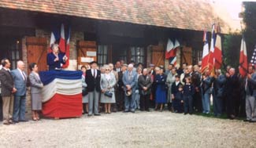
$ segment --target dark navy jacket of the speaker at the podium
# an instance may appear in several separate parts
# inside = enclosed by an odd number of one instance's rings
[[[65,63],[63,60],[63,57],[65,56],[64,53],[59,52],[58,53],[58,61],[54,62],[54,59],[56,56],[54,55],[53,52],[50,52],[47,54],[47,65],[49,66],[49,70],[55,70],[55,68],[60,69],[61,68],[61,63]]]

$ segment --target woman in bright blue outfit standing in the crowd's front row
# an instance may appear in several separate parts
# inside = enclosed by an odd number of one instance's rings
[[[161,67],[159,74],[156,75],[156,106],[160,105],[160,111],[163,110],[163,106],[166,103],[166,75],[164,74],[164,69]],[[156,110],[158,108],[156,107]]]

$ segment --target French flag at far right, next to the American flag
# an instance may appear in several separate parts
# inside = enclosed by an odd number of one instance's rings
[[[245,77],[247,75],[247,69],[247,45],[244,41],[244,38],[242,38],[239,58],[239,74],[241,74],[242,77]]]

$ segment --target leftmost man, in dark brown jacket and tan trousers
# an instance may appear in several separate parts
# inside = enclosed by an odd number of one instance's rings
[[[9,125],[13,121],[11,117],[13,116],[13,98],[12,93],[17,92],[17,89],[13,86],[13,77],[9,72],[9,67],[11,63],[9,60],[4,59],[1,61],[2,70],[0,70],[0,81],[1,81],[1,91],[2,91],[2,113],[3,113],[3,124]]]

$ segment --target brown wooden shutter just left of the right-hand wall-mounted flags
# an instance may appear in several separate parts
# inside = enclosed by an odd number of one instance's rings
[[[160,65],[165,66],[165,51],[163,47],[152,45],[152,63],[154,63],[156,67]]]

